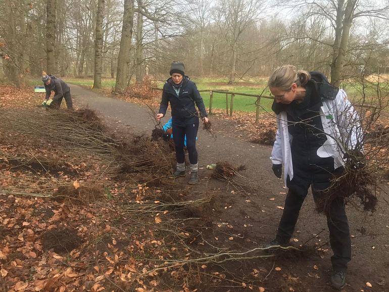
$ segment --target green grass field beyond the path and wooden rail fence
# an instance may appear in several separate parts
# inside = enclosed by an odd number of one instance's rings
[[[91,78],[64,78],[66,82],[87,86],[89,88],[93,85],[93,79]],[[199,90],[226,90],[230,92],[238,92],[238,93],[246,93],[246,94],[261,94],[264,88],[266,88],[267,79],[266,78],[251,78],[246,79],[244,81],[237,80],[233,85],[227,85],[226,78],[192,78],[192,81],[196,82]],[[387,80],[386,83],[381,83],[382,85],[386,85],[386,88],[389,86]],[[376,82],[372,82],[371,84],[375,84]],[[31,85],[42,85],[40,80],[31,80]],[[156,81],[156,87],[162,88],[164,82]],[[115,87],[115,79],[113,78],[104,78],[102,79],[102,85],[104,88],[113,88]],[[358,100],[362,95],[362,85],[359,83],[349,82],[347,85],[343,86],[345,88],[349,99]],[[374,86],[369,86],[367,89],[367,96],[376,96],[376,92],[374,92]],[[366,90],[366,89],[365,89]],[[270,91],[266,88],[262,95],[269,95]],[[203,97],[205,106],[209,107],[210,93],[201,92]],[[228,94],[228,109],[230,108],[230,94]],[[245,112],[255,112],[256,111],[256,97],[254,96],[242,96],[235,94],[234,102],[233,102],[233,110],[236,111],[245,111]],[[269,111],[271,110],[272,100],[262,98],[260,102],[261,111]],[[226,109],[226,94],[225,93],[214,93],[213,94],[213,104],[212,107],[214,109]]]

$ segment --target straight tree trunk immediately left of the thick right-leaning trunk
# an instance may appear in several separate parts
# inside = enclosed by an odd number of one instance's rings
[[[92,88],[102,88],[103,21],[105,0],[99,0],[94,40],[94,80]]]

